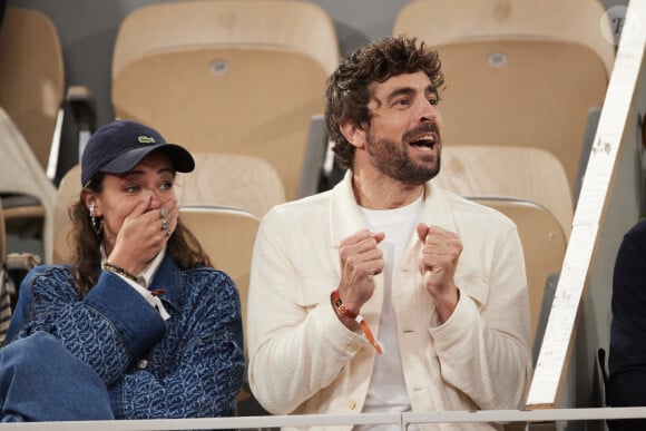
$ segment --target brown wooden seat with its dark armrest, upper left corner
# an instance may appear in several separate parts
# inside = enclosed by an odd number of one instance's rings
[[[66,87],[53,22],[27,8],[7,8],[0,27],[0,106],[55,184],[78,163],[79,145],[96,128],[96,107],[84,86]]]

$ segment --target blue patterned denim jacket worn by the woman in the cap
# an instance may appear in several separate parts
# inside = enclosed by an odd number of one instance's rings
[[[102,382],[116,419],[233,415],[245,366],[241,303],[233,281],[208,267],[179,270],[166,255],[149,288],[165,291],[159,297],[170,313],[166,322],[111,272],[101,272],[81,298],[70,266],[33,268],[20,287],[8,345],[0,353],[42,333],[56,339],[65,347],[62,357],[81,363],[79,374],[89,371]],[[43,384],[42,400],[59,396],[61,382],[56,379],[50,375],[53,384]],[[14,389],[13,395],[20,391]],[[7,414],[11,399],[6,393],[0,396],[6,396],[2,413]],[[33,408],[38,411],[18,413],[27,420],[51,420],[50,409]]]

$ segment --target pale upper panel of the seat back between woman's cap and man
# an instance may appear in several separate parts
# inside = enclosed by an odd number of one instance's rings
[[[194,151],[193,156],[195,170],[178,173],[175,182],[183,206],[228,206],[262,217],[271,207],[285,202],[283,182],[263,158],[200,151]]]

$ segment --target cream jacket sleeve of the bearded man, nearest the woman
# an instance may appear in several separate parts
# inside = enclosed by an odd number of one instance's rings
[[[270,212],[261,223],[247,308],[249,385],[263,408],[274,414],[293,412],[329,386],[359,346],[368,343],[339,321],[329,300],[322,297],[316,304],[301,297],[306,288],[302,283],[323,292],[336,286],[330,277],[301,280],[295,261],[304,252],[288,245],[301,235],[294,232],[298,224],[291,217]],[[307,258],[316,257],[307,254]]]

